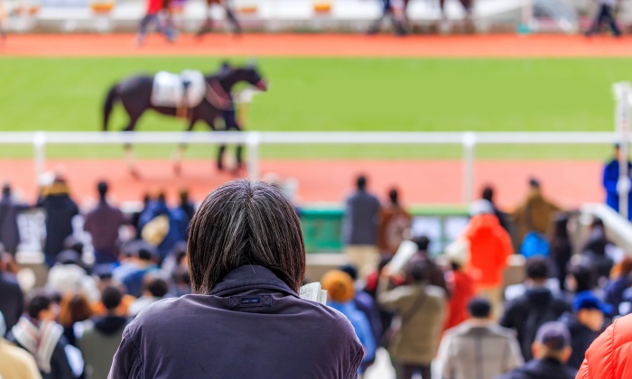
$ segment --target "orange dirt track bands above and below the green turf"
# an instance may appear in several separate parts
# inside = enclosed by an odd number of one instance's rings
[[[607,37],[585,39],[567,35],[484,35],[367,37],[341,34],[246,34],[236,38],[213,34],[198,41],[182,35],[174,44],[157,35],[133,48],[132,34],[12,34],[0,48],[1,57],[98,57],[98,56],[310,56],[310,57],[447,57],[447,58],[572,58],[632,57],[632,39]],[[48,162],[48,169],[65,167],[74,196],[85,202],[94,197],[97,180],[108,179],[118,200],[140,199],[148,190],[168,189],[174,199],[181,187],[200,200],[210,189],[233,177],[218,173],[214,162],[185,161],[182,175],[172,173],[167,161],[138,162],[142,177],[133,179],[122,161],[66,160]],[[353,178],[367,173],[369,186],[382,196],[391,186],[402,189],[407,203],[455,204],[462,200],[458,161],[265,161],[262,174],[274,172],[299,181],[303,202],[339,202],[352,188]],[[535,176],[544,191],[563,206],[600,201],[599,162],[478,161],[475,191],[487,183],[497,188],[501,205],[514,206],[525,196],[526,180]],[[14,182],[23,194],[35,192],[33,162],[0,161],[0,180]]]

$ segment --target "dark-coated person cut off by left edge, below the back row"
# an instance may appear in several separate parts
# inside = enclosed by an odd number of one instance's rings
[[[11,330],[24,310],[24,295],[17,278],[7,271],[7,257],[0,253],[0,313],[6,330]],[[4,337],[5,333],[0,334]]]

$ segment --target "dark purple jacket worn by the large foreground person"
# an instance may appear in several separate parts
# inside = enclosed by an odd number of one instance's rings
[[[302,300],[262,266],[211,295],[153,303],[123,332],[109,378],[355,378],[364,355],[349,320]]]

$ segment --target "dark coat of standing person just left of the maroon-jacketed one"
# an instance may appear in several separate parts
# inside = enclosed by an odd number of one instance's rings
[[[68,193],[48,195],[38,202],[46,211],[46,241],[44,254],[52,260],[63,250],[63,241],[72,235],[72,217],[79,215],[79,208]]]

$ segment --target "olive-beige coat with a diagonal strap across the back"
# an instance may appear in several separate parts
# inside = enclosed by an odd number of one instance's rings
[[[415,307],[416,299],[425,296],[421,305],[418,303],[413,314],[396,329],[389,343],[388,352],[397,363],[430,365],[437,351],[441,328],[445,321],[445,291],[440,287],[423,283],[390,290],[388,286],[388,282],[380,282],[377,300],[386,309],[395,310],[395,325],[401,323],[402,315],[407,315],[411,307]]]

